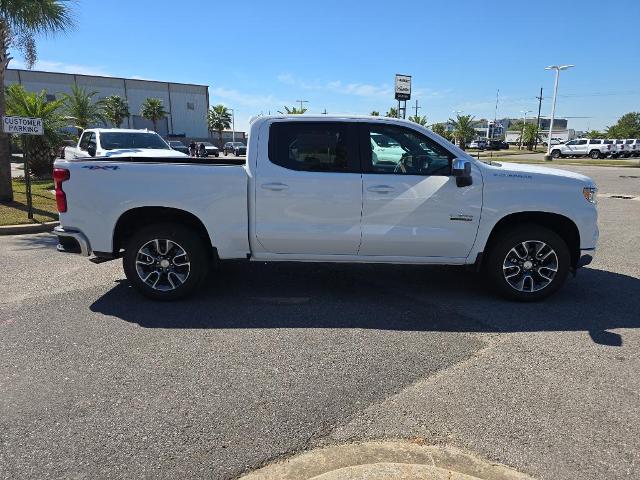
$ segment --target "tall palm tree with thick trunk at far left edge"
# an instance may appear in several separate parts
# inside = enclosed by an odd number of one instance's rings
[[[11,61],[9,46],[17,46],[28,68],[36,61],[34,38],[70,27],[66,0],[2,0],[0,2],[0,116],[5,114],[4,75]],[[0,132],[0,201],[12,201],[9,136]]]

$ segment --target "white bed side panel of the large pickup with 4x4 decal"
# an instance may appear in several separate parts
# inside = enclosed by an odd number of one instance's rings
[[[78,229],[95,252],[111,252],[118,219],[135,208],[166,207],[201,219],[220,258],[242,258],[247,239],[247,171],[209,158],[82,158],[57,160],[64,182],[65,228]],[[219,160],[219,159],[216,159]],[[80,201],[81,199],[81,201]]]

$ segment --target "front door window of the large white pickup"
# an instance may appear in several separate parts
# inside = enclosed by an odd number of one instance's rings
[[[371,173],[449,175],[455,155],[426,135],[409,128],[368,125]],[[366,153],[365,153],[366,154]]]

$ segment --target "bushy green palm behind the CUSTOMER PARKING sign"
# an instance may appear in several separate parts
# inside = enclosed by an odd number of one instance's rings
[[[47,92],[27,92],[22,85],[14,83],[6,90],[7,115],[41,118],[44,135],[25,135],[19,141],[28,159],[31,173],[36,176],[51,174],[53,159],[64,136],[61,129],[66,126],[64,99],[47,101]],[[25,172],[27,175],[28,172]]]

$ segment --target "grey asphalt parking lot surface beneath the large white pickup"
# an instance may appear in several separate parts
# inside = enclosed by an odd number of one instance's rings
[[[596,179],[601,241],[539,304],[460,268],[244,262],[154,303],[119,262],[0,237],[0,478],[228,479],[389,437],[640,478],[640,169],[562,168]]]

